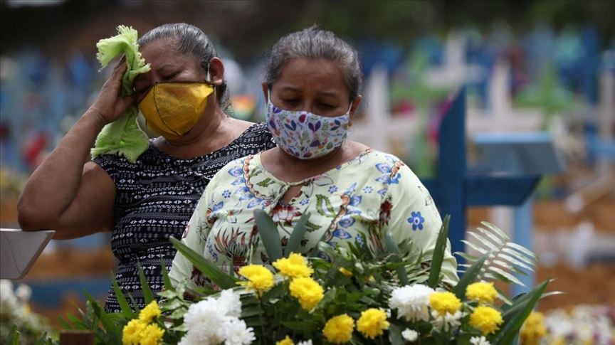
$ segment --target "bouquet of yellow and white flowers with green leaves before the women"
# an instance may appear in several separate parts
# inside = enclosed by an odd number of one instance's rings
[[[470,233],[466,245],[478,255],[459,253],[465,272],[449,286],[440,275],[448,217],[431,258],[389,233],[382,253],[362,236],[347,248],[321,242],[300,255],[308,217],[283,247],[273,221],[256,211],[272,265],[248,264],[237,274],[171,238],[208,287],[174,287],[163,265],[160,302],[141,272],[147,307],[131,307],[114,282],[122,312],[107,314],[88,297],[82,318],[70,317],[73,327],[92,329],[104,344],[511,344],[547,295],[548,281],[514,299],[495,288],[493,280],[521,284],[513,273],[531,271],[535,257],[489,223]]]

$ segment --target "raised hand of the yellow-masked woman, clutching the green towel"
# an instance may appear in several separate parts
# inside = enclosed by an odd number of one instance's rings
[[[126,68],[125,58],[122,58],[115,66],[109,79],[102,85],[93,105],[90,106],[89,110],[99,116],[105,124],[120,118],[128,107],[135,102],[134,95],[126,97],[120,95],[122,76],[126,72]]]

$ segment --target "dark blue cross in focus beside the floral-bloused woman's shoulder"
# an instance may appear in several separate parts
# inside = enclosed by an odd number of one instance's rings
[[[439,131],[438,177],[425,180],[442,216],[451,215],[448,238],[453,252],[463,252],[468,206],[520,206],[540,175],[470,175],[466,165],[466,88],[446,111]]]

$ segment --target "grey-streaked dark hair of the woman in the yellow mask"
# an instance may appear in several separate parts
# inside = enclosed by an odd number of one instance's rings
[[[218,57],[214,43],[211,43],[207,35],[200,28],[186,23],[169,23],[152,28],[137,40],[137,44],[147,46],[148,43],[160,39],[174,41],[179,53],[194,55],[205,71],[209,68],[209,60]],[[226,87],[226,80],[216,86],[216,95],[222,110],[230,115],[231,97]]]

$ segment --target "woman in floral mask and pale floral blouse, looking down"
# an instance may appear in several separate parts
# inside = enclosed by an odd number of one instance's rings
[[[362,100],[360,85],[357,52],[333,33],[308,28],[281,38],[263,83],[267,124],[278,146],[214,176],[183,242],[225,271],[268,263],[253,221],[261,208],[278,225],[283,245],[310,213],[304,254],[321,238],[343,245],[360,240],[359,232],[367,234],[369,248],[382,250],[382,233],[390,231],[398,242],[411,238],[431,260],[442,222],[429,192],[395,156],[346,139]],[[448,284],[458,280],[450,245],[442,273]],[[206,281],[179,253],[170,276],[189,287]]]

